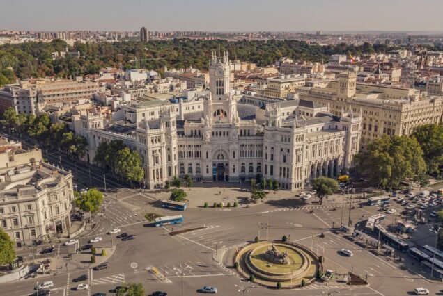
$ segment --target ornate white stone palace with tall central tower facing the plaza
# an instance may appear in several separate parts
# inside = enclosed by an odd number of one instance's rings
[[[351,167],[361,112],[333,115],[329,106],[302,99],[240,104],[231,92],[227,54],[212,54],[209,74],[209,91],[189,92],[178,104],[133,102],[122,106],[120,121],[104,120],[99,112],[81,115],[78,132],[88,138],[88,160],[100,142],[123,140],[142,158],[146,188],[185,174],[226,182],[261,174],[282,189],[299,190],[316,176]]]

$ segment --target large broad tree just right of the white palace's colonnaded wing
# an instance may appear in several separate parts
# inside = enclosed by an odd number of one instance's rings
[[[423,151],[417,140],[408,136],[384,137],[371,142],[367,151],[355,156],[357,170],[369,174],[380,187],[397,188],[403,179],[426,172]]]

